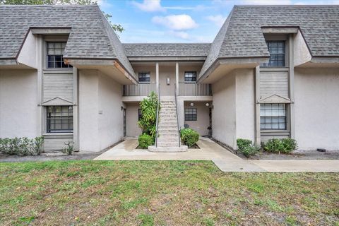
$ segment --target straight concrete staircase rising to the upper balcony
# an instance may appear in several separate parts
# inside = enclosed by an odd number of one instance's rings
[[[153,152],[186,151],[187,146],[179,145],[177,109],[174,97],[160,100],[160,106],[157,147],[150,146],[148,150]]]

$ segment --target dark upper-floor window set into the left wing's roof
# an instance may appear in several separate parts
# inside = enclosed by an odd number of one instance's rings
[[[72,66],[64,64],[64,50],[66,42],[47,42],[47,68],[68,69]]]

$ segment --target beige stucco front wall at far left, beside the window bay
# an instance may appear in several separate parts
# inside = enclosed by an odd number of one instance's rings
[[[36,70],[0,70],[0,138],[40,136]]]

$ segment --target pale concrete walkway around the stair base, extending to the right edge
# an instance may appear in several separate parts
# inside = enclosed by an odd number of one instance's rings
[[[208,138],[201,138],[197,144],[201,149],[150,153],[136,149],[138,141],[129,139],[95,160],[212,160],[223,172],[339,172],[339,160],[243,160]]]

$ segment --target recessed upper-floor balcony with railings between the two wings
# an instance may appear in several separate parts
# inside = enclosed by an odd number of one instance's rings
[[[202,62],[138,62],[132,63],[138,84],[123,85],[123,97],[147,96],[154,91],[162,96],[210,96],[208,83],[196,83]]]

